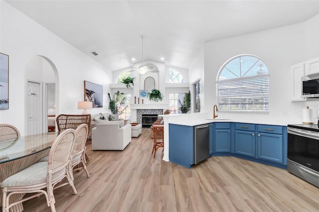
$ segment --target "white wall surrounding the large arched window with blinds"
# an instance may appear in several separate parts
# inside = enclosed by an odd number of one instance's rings
[[[290,66],[319,56],[318,26],[319,15],[304,23],[206,43],[204,99],[208,109],[205,112],[212,113],[216,104],[216,76],[220,67],[236,55],[252,54],[260,57],[269,70],[269,114],[240,115],[251,115],[256,119],[264,116],[302,117],[302,108],[308,103],[290,100]],[[311,105],[318,107],[318,102]]]

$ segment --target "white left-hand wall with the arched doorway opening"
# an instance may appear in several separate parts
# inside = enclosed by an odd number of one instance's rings
[[[0,110],[0,123],[12,124],[24,135],[25,80],[37,78],[25,76],[26,65],[35,55],[48,58],[56,67],[59,76],[56,114],[82,113],[77,109],[77,102],[83,101],[84,80],[103,86],[104,107],[89,112],[107,110],[110,70],[4,1],[0,1],[0,19],[0,52],[9,55],[9,109]]]

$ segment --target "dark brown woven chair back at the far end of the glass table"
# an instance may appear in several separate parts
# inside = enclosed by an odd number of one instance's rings
[[[91,124],[91,114],[87,115],[69,115],[60,114],[56,117],[56,124],[58,126],[59,133],[66,129],[76,129],[80,124],[87,124],[88,127]]]

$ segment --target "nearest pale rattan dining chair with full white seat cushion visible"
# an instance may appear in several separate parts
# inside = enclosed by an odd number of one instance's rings
[[[40,162],[29,166],[28,168],[6,178],[2,183],[2,210],[9,212],[12,206],[25,202],[31,198],[44,194],[48,207],[55,212],[55,199],[53,195],[54,186],[64,177],[72,187],[73,194],[77,191],[73,181],[67,172],[70,164],[71,152],[74,145],[75,130],[64,130],[54,140],[49,153],[48,162]],[[9,204],[9,198],[17,193],[36,193],[18,202]]]

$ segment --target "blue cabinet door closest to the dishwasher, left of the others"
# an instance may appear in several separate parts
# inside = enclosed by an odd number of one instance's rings
[[[215,152],[230,152],[230,129],[215,129]]]

